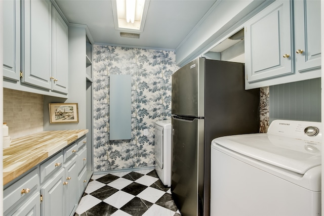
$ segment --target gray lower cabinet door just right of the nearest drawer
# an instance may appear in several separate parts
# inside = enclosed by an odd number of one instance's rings
[[[41,188],[42,215],[65,215],[64,174],[65,170],[62,168]]]

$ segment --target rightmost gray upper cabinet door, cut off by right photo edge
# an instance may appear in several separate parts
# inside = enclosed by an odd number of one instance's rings
[[[320,0],[294,1],[294,25],[296,71],[320,69]]]

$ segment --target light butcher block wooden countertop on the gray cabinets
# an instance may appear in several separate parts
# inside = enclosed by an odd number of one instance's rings
[[[88,129],[44,131],[12,140],[3,159],[4,185],[89,132]]]

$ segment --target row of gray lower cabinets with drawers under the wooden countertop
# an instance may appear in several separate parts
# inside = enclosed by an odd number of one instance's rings
[[[82,137],[4,187],[4,215],[74,215],[89,175]]]

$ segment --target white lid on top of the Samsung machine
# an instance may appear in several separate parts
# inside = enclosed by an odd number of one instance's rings
[[[321,143],[271,134],[235,135],[213,141],[231,151],[299,174],[321,164]],[[215,148],[215,145],[212,145]]]

